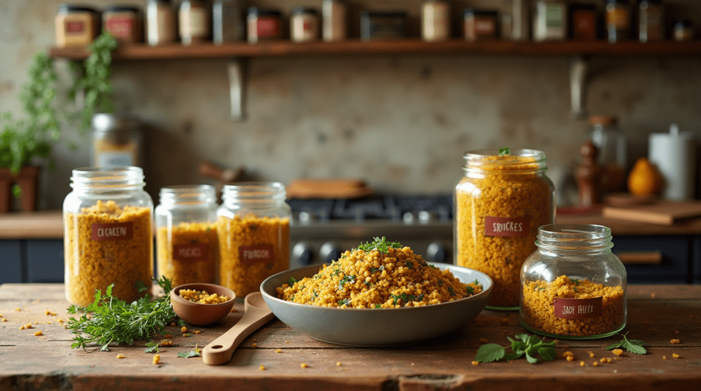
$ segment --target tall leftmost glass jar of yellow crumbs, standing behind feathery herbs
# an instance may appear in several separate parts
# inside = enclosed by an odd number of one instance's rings
[[[151,215],[139,167],[74,169],[63,201],[66,299],[93,302],[95,290],[134,301],[151,292],[154,273]],[[147,290],[139,292],[138,285]]]

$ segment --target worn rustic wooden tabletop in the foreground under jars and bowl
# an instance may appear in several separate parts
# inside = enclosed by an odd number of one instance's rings
[[[483,311],[458,332],[397,348],[335,346],[275,319],[245,339],[229,364],[210,367],[200,358],[178,358],[177,352],[205,346],[221,335],[243,314],[243,303],[212,327],[189,327],[203,330],[189,338],[179,327],[168,327],[174,346],[162,348],[159,365],[144,353],[143,342],[108,353],[71,349],[72,334],[57,321],[67,319],[67,305],[62,284],[0,285],[0,313],[8,320],[0,322],[0,390],[679,391],[698,390],[701,384],[701,285],[629,286],[625,331],[650,344],[648,355],[616,357],[602,349],[617,336],[562,340],[556,360],[535,365],[523,358],[471,364],[484,339],[507,345],[507,336],[524,332],[517,313]],[[44,315],[47,310],[57,315]],[[19,329],[36,321],[32,329]],[[43,335],[34,336],[36,330]],[[672,344],[672,339],[681,343]],[[564,359],[567,350],[576,360]],[[125,358],[117,359],[118,353]],[[673,358],[674,353],[680,357]],[[594,367],[602,357],[614,361]],[[302,363],[308,367],[301,368]]]

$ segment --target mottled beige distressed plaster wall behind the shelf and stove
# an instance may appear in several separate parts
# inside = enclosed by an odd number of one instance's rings
[[[138,1],[88,1],[98,7]],[[54,42],[60,1],[0,2],[0,108],[20,113],[27,66]],[[258,1],[283,10],[320,1]],[[420,1],[365,1],[369,8],[418,9]],[[382,6],[377,4],[381,3]],[[502,1],[462,1],[503,6]],[[667,1],[697,20],[701,4]],[[459,8],[456,6],[456,8]],[[413,28],[418,26],[416,12]],[[164,185],[207,183],[196,165],[243,166],[252,178],[358,177],[382,191],[450,192],[466,150],[544,150],[552,173],[578,162],[589,125],[569,114],[564,56],[387,56],[253,59],[247,120],[229,118],[225,60],[116,62],[116,101],[147,123],[146,175]],[[64,66],[59,61],[59,66]],[[591,62],[587,108],[618,115],[629,160],[670,122],[701,134],[701,58],[601,58]],[[43,177],[41,207],[60,208],[70,170],[88,164],[60,145]],[[157,200],[156,200],[157,202]]]

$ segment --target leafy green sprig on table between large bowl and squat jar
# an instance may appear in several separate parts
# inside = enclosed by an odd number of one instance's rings
[[[526,355],[526,360],[531,364],[536,364],[539,360],[536,358],[536,353],[543,360],[552,361],[557,357],[555,353],[555,343],[552,341],[545,343],[545,338],[539,339],[535,335],[519,334],[516,339],[506,337],[511,342],[511,346],[499,346],[496,343],[486,343],[479,347],[475,361],[478,362],[493,362],[501,359],[516,360],[522,355]],[[506,353],[506,349],[511,348],[513,353]]]

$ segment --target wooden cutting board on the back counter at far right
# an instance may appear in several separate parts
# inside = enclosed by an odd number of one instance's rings
[[[637,206],[606,206],[601,215],[605,218],[655,225],[674,225],[677,220],[701,216],[701,202],[658,201]]]

